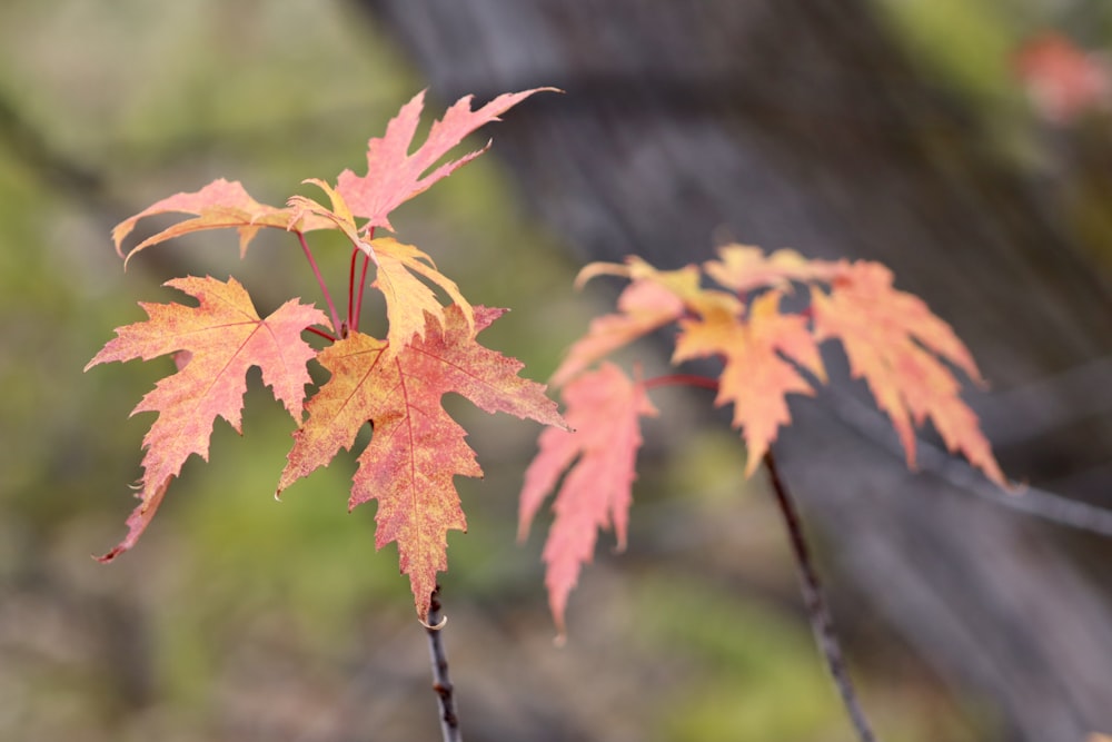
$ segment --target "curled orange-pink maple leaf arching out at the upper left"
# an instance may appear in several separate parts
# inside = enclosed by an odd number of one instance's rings
[[[196,216],[148,237],[125,254],[123,240],[131,234],[139,220],[159,214],[193,214]],[[140,250],[175,237],[205,229],[236,228],[239,231],[239,254],[242,257],[247,253],[247,246],[262,227],[309,231],[334,228],[334,222],[319,214],[301,214],[291,208],[259,204],[247,194],[239,181],[219,178],[200,190],[175,194],[163,198],[139,214],[125,219],[112,229],[112,240],[116,243],[116,251],[125,258],[126,263]]]

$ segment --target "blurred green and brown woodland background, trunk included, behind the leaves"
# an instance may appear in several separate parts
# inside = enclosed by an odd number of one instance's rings
[[[125,273],[119,220],[217,177],[309,192],[425,87],[438,117],[545,85],[566,93],[394,218],[514,308],[488,343],[546,378],[613,299],[572,290],[590,259],[734,239],[885,261],[971,346],[992,387],[969,398],[1031,491],[1001,504],[930,432],[907,472],[832,356],[777,454],[865,709],[886,740],[1112,731],[1110,42],[1095,0],[6,0],[0,739],[437,739],[396,551],[375,553],[373,506],[346,511],[354,457],[276,503],[291,422],[254,377],[245,435],[217,423],[211,461],[99,565],[150,424],[127,415],[170,360],[81,368],[175,276],[235,274],[262,313],[321,301],[288,236],[240,261],[210,233]],[[342,285],[347,249],[319,245]],[[538,431],[457,405],[486,471],[457,479],[469,532],[443,578],[465,735],[853,739],[763,478],[704,396],[654,399],[629,552],[603,537],[559,650],[545,524],[515,544]]]

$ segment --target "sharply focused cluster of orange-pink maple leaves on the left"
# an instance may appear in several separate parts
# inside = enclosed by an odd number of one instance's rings
[[[87,369],[110,360],[173,355],[178,370],[160,380],[133,410],[158,413],[143,438],[137,495],[141,502],[128,518],[127,535],[102,561],[135,545],[189,456],[208,458],[217,416],[240,431],[246,374],[258,366],[262,382],[298,424],[277,493],[327,465],[340,448],[350,449],[364,425],[374,426],[370,443],[358,457],[349,507],[378,501],[376,545],[398,544],[401,571],[409,575],[417,613],[425,619],[436,574],[447,568],[447,532],[466,530],[453,478],[483,473],[464,429],[444,410],[443,395],[455,392],[490,413],[556,426],[564,422],[545,387],[518,376],[519,362],[476,339],[503,310],[473,307],[427,254],[374,234],[378,228],[393,230],[389,215],[397,206],[485,148],[434,168],[448,150],[535,92],[499,96],[474,111],[470,97],[463,98],[410,152],[424,107],[424,93],[418,93],[390,120],[384,137],[368,142],[367,175],[345,170],[335,188],[322,180],[307,181],[327,195],[329,206],[304,196],[291,197],[281,208],[266,206],[239,182],[220,179],[196,192],[160,200],[116,227],[112,237],[126,260],[168,239],[222,228],[239,231],[240,253],[246,254],[259,229],[285,229],[305,250],[329,313],[291,299],[260,318],[235,278],[188,277],[167,285],[196,297],[197,306],[141,304],[148,320],[116,330],[117,337]],[[191,218],[122,251],[123,240],[140,219],[168,212]],[[351,243],[344,317],[305,237],[318,229],[339,230]],[[371,264],[370,286],[386,299],[389,328],[384,339],[359,332]],[[441,304],[435,289],[450,301]],[[318,352],[304,338],[306,330],[331,343]],[[311,382],[308,363],[314,359],[330,377],[306,400]]]

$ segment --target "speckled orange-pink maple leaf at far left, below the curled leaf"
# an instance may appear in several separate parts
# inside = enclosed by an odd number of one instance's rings
[[[128,518],[128,534],[111,552],[111,560],[131,548],[150,523],[170,479],[192,454],[208,459],[212,424],[219,415],[241,432],[247,370],[258,366],[262,382],[271,388],[295,421],[300,422],[305,386],[310,383],[306,364],[315,350],[301,339],[310,325],[328,326],[312,306],[291,299],[260,319],[244,287],[211,277],[176,278],[167,286],[198,299],[198,306],[146,304],[147,321],[119,327],[86,366],[112,360],[149,360],[177,354],[179,369],[160,380],[132,410],[157,412],[158,418],[143,437],[141,503]]]

